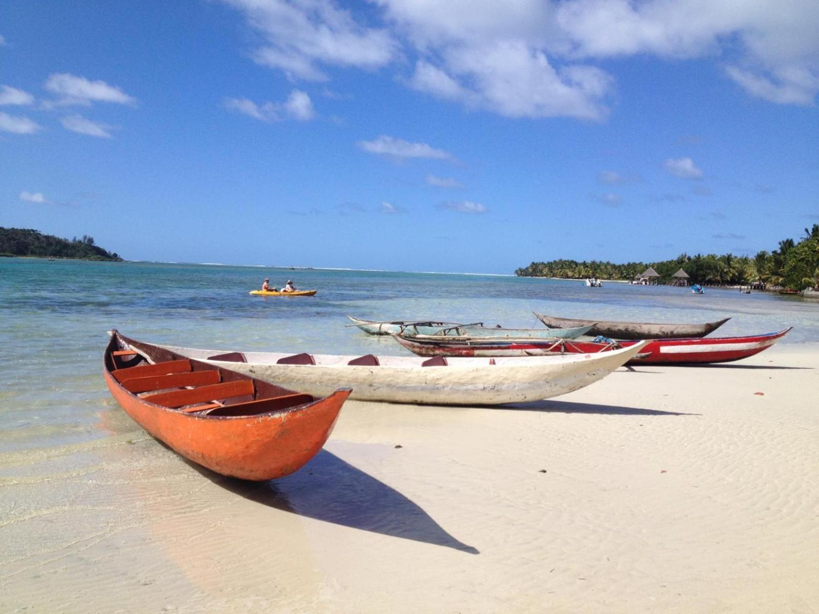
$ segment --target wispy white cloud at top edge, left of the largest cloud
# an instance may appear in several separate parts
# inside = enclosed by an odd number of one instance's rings
[[[373,70],[387,65],[397,46],[387,29],[368,28],[335,2],[224,0],[244,13],[266,38],[253,52],[259,64],[283,70],[291,79],[326,80],[318,65]]]

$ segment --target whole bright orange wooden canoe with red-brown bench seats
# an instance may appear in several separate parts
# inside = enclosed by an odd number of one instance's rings
[[[111,332],[103,374],[139,426],[225,476],[273,480],[318,454],[349,390],[322,399]]]

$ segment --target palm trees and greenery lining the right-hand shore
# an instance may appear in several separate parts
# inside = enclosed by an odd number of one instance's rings
[[[690,283],[714,285],[751,285],[761,287],[785,287],[791,290],[819,288],[819,224],[805,228],[805,236],[799,243],[793,239],[779,242],[775,251],[760,251],[753,258],[749,256],[695,255],[681,254],[675,260],[662,262],[630,262],[612,264],[610,262],[577,262],[577,260],[552,260],[533,262],[515,274],[523,277],[546,278],[603,278],[631,281],[649,266],[659,273],[659,283],[672,282],[672,275],[679,269],[689,274]]]

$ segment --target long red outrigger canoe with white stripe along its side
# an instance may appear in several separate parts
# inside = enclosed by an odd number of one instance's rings
[[[787,335],[790,327],[764,335],[712,337],[703,339],[653,339],[650,341],[585,341],[576,339],[538,340],[471,340],[394,336],[407,350],[419,356],[549,356],[565,354],[599,354],[641,345],[640,354],[630,362],[640,364],[727,363],[758,354]]]

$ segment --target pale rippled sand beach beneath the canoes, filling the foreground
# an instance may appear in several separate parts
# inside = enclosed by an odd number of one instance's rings
[[[817,391],[791,344],[502,409],[350,402],[267,484],[111,401],[101,440],[0,456],[0,612],[817,612]]]

